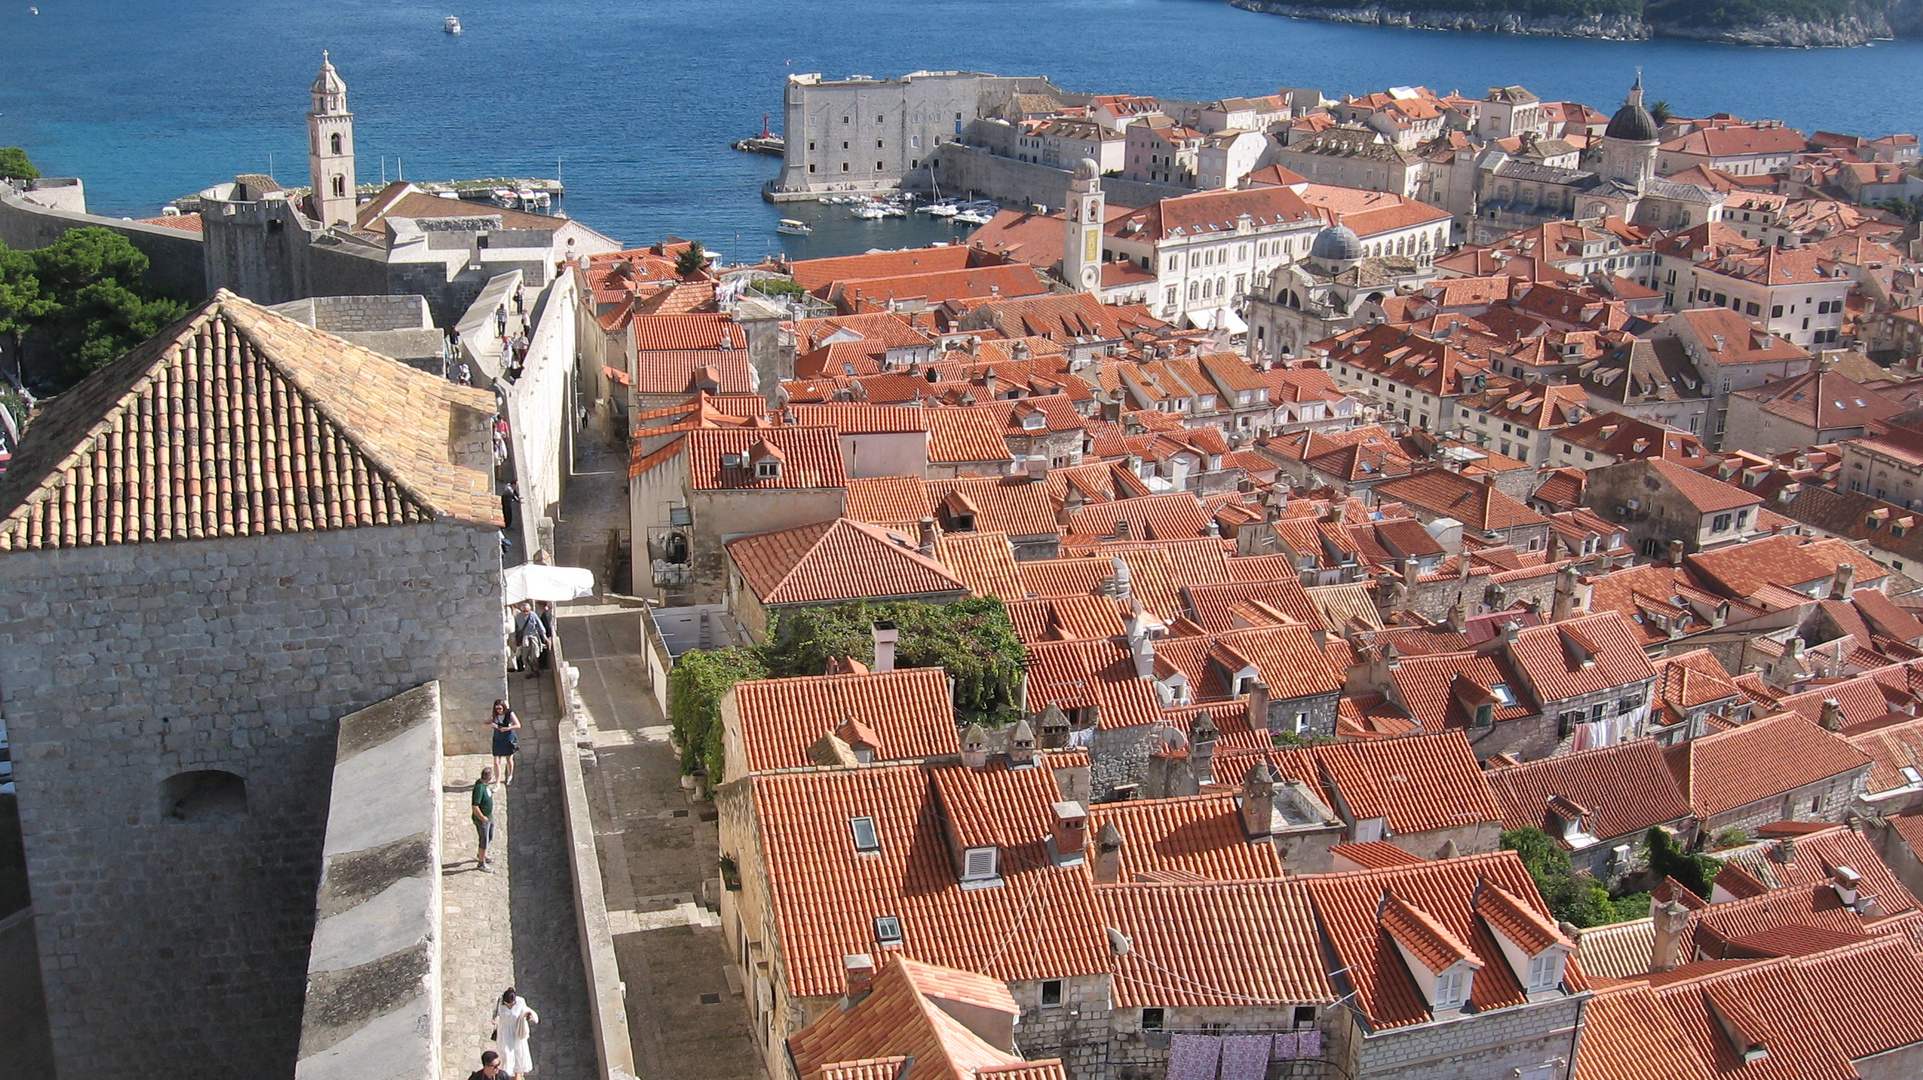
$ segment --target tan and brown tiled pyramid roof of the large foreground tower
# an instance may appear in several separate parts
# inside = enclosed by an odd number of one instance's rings
[[[490,473],[450,446],[492,411],[485,392],[221,290],[46,405],[0,480],[0,550],[498,528]]]

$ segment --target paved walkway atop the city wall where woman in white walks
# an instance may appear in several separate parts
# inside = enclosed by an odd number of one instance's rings
[[[465,1080],[481,1067],[481,1051],[492,1049],[494,1003],[510,986],[540,1013],[531,1076],[592,1080],[598,1072],[575,936],[550,680],[508,676],[508,700],[521,717],[521,751],[513,784],[494,788],[492,874],[475,867],[469,813],[473,782],[492,759],[442,759],[440,1051],[448,1080]]]

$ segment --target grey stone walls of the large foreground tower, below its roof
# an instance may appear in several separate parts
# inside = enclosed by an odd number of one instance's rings
[[[290,1074],[337,721],[438,678],[448,751],[481,751],[504,692],[496,532],[437,521],[4,567],[0,705],[62,1074]],[[190,774],[244,790],[200,813]]]

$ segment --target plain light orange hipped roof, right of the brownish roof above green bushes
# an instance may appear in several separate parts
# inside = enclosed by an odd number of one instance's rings
[[[1677,784],[1710,817],[1867,769],[1869,755],[1796,713],[1779,713],[1671,746]]]

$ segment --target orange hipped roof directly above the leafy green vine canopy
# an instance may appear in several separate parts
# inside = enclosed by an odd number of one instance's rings
[[[729,540],[727,552],[762,603],[967,592],[913,540],[846,517]]]

